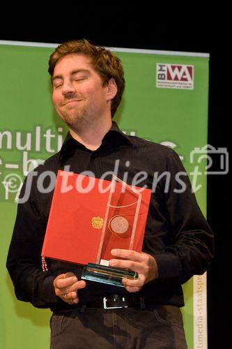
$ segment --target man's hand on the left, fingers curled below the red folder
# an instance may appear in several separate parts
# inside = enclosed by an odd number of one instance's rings
[[[77,276],[72,272],[60,274],[53,282],[56,296],[68,304],[77,304],[79,298],[77,290],[86,287],[85,281],[78,281]]]

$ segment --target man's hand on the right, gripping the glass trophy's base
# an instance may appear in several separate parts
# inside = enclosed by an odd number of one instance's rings
[[[123,285],[128,292],[138,292],[149,281],[155,280],[158,276],[157,262],[152,255],[144,252],[136,252],[132,250],[123,250],[114,248],[111,254],[116,258],[109,260],[110,267],[130,269],[139,274],[139,279],[130,280],[123,279]],[[124,260],[125,258],[125,260]]]

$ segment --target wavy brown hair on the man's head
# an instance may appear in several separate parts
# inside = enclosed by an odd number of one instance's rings
[[[109,82],[111,77],[114,78],[118,88],[116,96],[111,101],[111,116],[114,117],[125,89],[124,69],[121,59],[105,47],[93,45],[86,39],[70,40],[56,47],[56,50],[51,54],[49,58],[49,74],[53,75],[56,63],[61,57],[72,53],[85,54],[91,58],[93,68],[102,78],[103,86]]]

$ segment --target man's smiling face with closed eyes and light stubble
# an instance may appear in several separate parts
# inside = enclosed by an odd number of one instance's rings
[[[74,130],[110,112],[108,92],[84,54],[68,54],[54,68],[52,101],[61,119]]]

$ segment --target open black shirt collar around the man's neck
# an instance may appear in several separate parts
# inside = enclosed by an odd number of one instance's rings
[[[114,137],[116,136],[117,141],[120,144],[132,144],[132,146],[134,146],[134,143],[132,141],[132,138],[130,138],[130,136],[126,135],[125,133],[123,133],[123,131],[121,131],[121,129],[118,127],[118,125],[116,124],[116,121],[113,121],[111,128],[109,129],[109,131],[105,134],[105,136],[102,139],[102,144],[106,143],[107,140],[108,142],[111,139],[111,135],[114,135]],[[117,144],[118,144],[117,142]],[[72,135],[70,134],[70,131],[68,131],[65,140],[62,144],[61,150],[60,150],[60,154],[59,154],[59,158],[61,158],[61,156],[65,155],[65,151],[67,151],[68,148],[73,147],[73,145],[75,145],[76,147],[80,147],[83,149],[86,149],[86,147],[84,147],[84,145],[80,142],[78,142],[77,140],[75,140]]]

